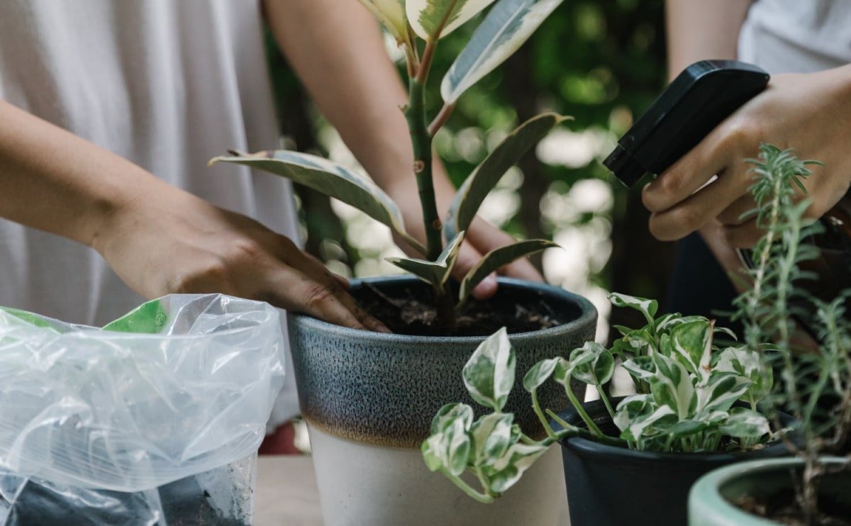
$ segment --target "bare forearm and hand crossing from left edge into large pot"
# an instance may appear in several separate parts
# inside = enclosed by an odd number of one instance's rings
[[[0,217],[97,249],[137,293],[220,292],[386,330],[286,237],[0,100]]]

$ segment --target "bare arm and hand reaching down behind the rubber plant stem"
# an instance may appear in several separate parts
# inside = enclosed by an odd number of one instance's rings
[[[355,0],[266,0],[271,30],[325,117],[334,124],[363,168],[403,210],[414,236],[425,238],[412,172],[414,153],[400,106],[408,94],[388,59],[378,25]],[[306,30],[306,28],[310,28]],[[442,169],[435,174],[438,209],[445,211],[454,187]],[[458,270],[475,265],[481,253],[511,243],[483,220],[467,232]],[[527,261],[506,274],[540,279]],[[477,295],[493,294],[495,282]]]

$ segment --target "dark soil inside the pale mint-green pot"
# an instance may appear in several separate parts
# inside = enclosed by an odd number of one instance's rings
[[[738,506],[743,512],[767,518],[775,523],[790,526],[851,526],[851,509],[841,506],[836,500],[825,497],[819,499],[822,514],[816,518],[815,523],[808,523],[794,503],[795,494],[791,489],[776,492],[770,497],[740,497],[733,502],[734,506]]]

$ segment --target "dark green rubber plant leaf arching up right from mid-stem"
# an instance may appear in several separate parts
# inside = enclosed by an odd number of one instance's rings
[[[443,223],[443,237],[451,239],[457,232],[466,230],[484,198],[505,175],[505,172],[517,164],[523,154],[550,133],[550,130],[558,123],[563,123],[567,119],[568,117],[562,117],[556,113],[544,113],[529,119],[505,137],[473,170],[455,193],[446,221]]]

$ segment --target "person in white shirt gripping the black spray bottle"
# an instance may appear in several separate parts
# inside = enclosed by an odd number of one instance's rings
[[[643,202],[652,213],[655,237],[683,243],[672,310],[711,315],[730,311],[735,292],[711,254],[728,271],[740,268],[734,248],[750,248],[760,237],[756,221],[741,215],[754,207],[746,157],[761,142],[793,148],[801,158],[819,159],[805,181],[820,217],[851,184],[851,2],[848,0],[667,0],[668,65],[676,77],[705,59],[738,59],[772,74],[768,89],[735,111],[698,146],[648,184]],[[711,185],[704,184],[717,174]],[[700,237],[693,232],[700,232]],[[690,235],[691,234],[691,235]],[[705,254],[705,255],[700,255]],[[726,287],[726,300],[704,299]]]

